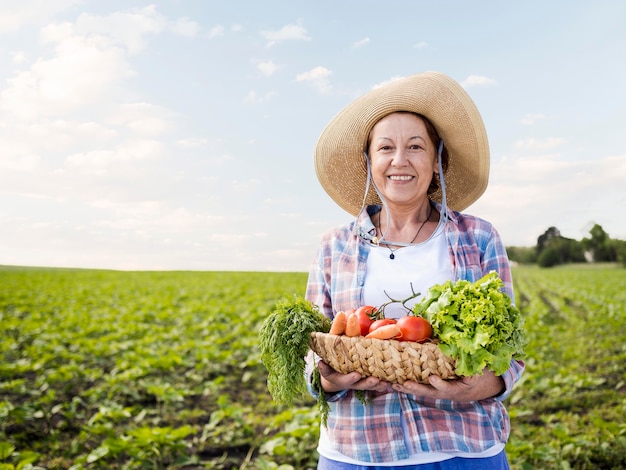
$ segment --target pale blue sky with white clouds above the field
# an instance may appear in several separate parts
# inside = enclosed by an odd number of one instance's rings
[[[427,70],[487,128],[465,212],[626,239],[624,57],[622,0],[0,0],[0,265],[308,271],[318,136]]]

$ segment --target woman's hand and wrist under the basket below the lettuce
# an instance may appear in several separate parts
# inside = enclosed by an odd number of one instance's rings
[[[405,382],[402,385],[394,384],[394,390],[411,393],[421,397],[453,401],[485,400],[504,392],[504,380],[490,370],[483,370],[482,375],[462,377],[456,380],[443,380],[437,376],[429,378],[430,385],[417,382]]]

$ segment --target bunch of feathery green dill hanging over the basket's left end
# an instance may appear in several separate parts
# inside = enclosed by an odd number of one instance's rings
[[[276,403],[291,405],[307,393],[304,369],[311,333],[327,333],[330,325],[330,319],[303,297],[283,298],[276,303],[259,330],[267,388]]]

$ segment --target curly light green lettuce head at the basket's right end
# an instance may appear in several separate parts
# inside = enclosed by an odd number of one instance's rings
[[[501,375],[512,358],[523,357],[523,318],[503,285],[495,271],[476,282],[447,281],[432,286],[414,307],[430,322],[441,352],[456,359],[459,376],[485,367]]]

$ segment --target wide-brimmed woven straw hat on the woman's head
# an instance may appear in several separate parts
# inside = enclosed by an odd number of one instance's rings
[[[448,150],[448,207],[462,211],[475,202],[489,180],[487,133],[466,91],[438,72],[420,73],[376,88],[349,104],[326,126],[315,149],[315,171],[328,195],[352,215],[361,211],[367,186],[363,156],[367,138],[376,122],[396,111],[426,116],[443,139]],[[441,189],[432,197],[441,201]],[[373,185],[365,203],[381,203]]]

